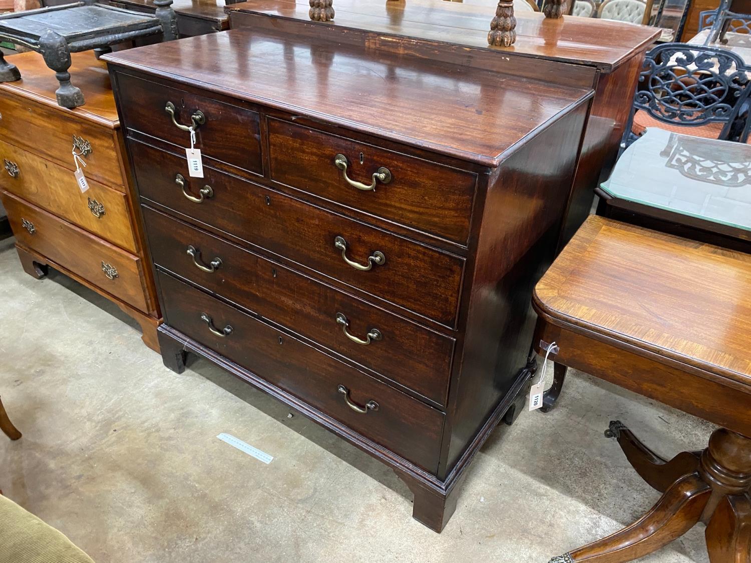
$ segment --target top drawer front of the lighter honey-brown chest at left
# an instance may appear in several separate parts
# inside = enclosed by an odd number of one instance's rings
[[[71,119],[62,111],[6,92],[0,93],[0,114],[0,139],[75,170],[71,153],[77,138],[77,152],[83,152],[86,161],[86,178],[124,191],[127,182],[122,179],[112,129]]]

